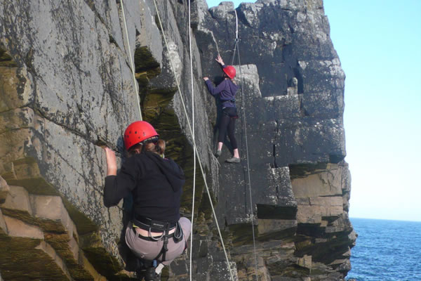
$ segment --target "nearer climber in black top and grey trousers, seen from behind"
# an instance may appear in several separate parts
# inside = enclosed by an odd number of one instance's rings
[[[166,143],[151,124],[133,122],[123,141],[128,158],[118,173],[114,152],[104,148],[104,204],[116,206],[123,197],[133,195],[134,214],[126,228],[126,244],[138,257],[138,278],[157,280],[163,266],[187,248],[191,223],[180,218],[185,175],[178,164],[164,157]]]

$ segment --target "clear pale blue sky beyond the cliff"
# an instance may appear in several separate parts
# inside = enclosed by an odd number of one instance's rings
[[[421,221],[421,0],[323,4],[347,75],[349,216]]]

